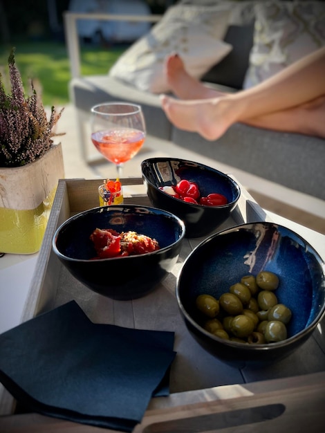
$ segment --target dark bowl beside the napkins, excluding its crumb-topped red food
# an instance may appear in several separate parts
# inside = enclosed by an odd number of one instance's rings
[[[93,259],[89,239],[95,228],[145,234],[160,249],[143,255]],[[72,216],[55,232],[53,250],[71,274],[91,290],[115,300],[131,300],[153,291],[172,270],[185,235],[177,216],[147,206],[114,205]]]

